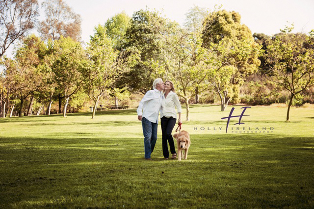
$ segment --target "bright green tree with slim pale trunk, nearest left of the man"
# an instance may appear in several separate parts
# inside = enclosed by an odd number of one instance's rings
[[[95,102],[92,118],[105,92],[115,89],[114,84],[128,70],[128,60],[123,52],[113,48],[112,40],[107,37],[104,26],[97,26],[87,49],[90,66],[84,71],[85,92]],[[130,59],[131,56],[128,56]]]

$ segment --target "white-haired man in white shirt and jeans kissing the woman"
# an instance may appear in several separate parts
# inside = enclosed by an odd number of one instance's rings
[[[137,108],[137,118],[142,121],[143,127],[145,159],[152,159],[151,155],[157,141],[158,115],[161,110],[162,90],[162,79],[155,79],[153,90],[145,94]],[[143,108],[144,111],[142,113]]]

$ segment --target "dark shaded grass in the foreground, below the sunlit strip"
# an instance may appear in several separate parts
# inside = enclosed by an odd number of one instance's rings
[[[92,134],[0,137],[0,208],[313,208],[313,136],[191,135],[178,161],[161,138],[145,160],[142,136]]]

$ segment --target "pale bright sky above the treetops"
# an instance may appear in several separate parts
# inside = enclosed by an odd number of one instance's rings
[[[43,0],[39,0],[41,4]],[[241,15],[241,22],[252,33],[272,35],[293,23],[294,32],[308,33],[314,29],[314,0],[65,0],[73,11],[82,18],[82,40],[89,42],[89,36],[98,24],[123,10],[131,16],[133,12],[148,6],[163,9],[167,18],[183,24],[185,13],[193,5],[207,7],[221,5],[228,11],[235,10]],[[43,14],[41,12],[41,14]],[[41,17],[42,19],[44,17]],[[9,54],[7,54],[10,56]]]

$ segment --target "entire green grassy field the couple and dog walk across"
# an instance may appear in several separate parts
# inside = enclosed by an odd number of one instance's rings
[[[314,208],[314,109],[286,123],[252,106],[226,133],[231,108],[191,105],[181,162],[163,159],[160,125],[144,160],[135,109],[0,119],[0,208]]]

